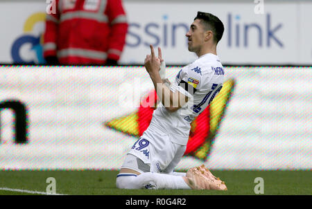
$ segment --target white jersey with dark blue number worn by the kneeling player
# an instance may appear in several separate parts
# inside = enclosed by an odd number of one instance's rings
[[[205,54],[184,66],[171,84],[171,91],[180,91],[189,98],[177,111],[167,111],[159,102],[148,129],[157,129],[171,135],[171,141],[187,145],[191,122],[198,116],[222,89],[224,70],[217,55]],[[146,131],[148,131],[148,129]],[[147,134],[147,133],[146,133]]]

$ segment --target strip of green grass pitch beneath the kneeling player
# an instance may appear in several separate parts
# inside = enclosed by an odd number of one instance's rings
[[[227,185],[227,191],[211,190],[120,190],[116,188],[117,171],[0,171],[0,188],[46,192],[48,177],[56,180],[60,194],[110,195],[252,195],[256,177],[264,180],[264,194],[312,194],[311,171],[211,171]],[[0,194],[26,194],[0,190]]]

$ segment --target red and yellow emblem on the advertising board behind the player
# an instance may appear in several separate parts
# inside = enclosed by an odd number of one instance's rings
[[[232,96],[233,89],[234,80],[229,79],[225,81],[223,88],[216,98],[214,98],[199,116],[196,118],[184,118],[191,122],[189,141],[184,156],[193,156],[202,161],[205,161],[209,157],[211,147],[214,144],[214,140],[216,140],[216,134],[219,130],[223,116],[225,116],[225,110],[229,98]],[[157,103],[158,98],[155,90],[150,91],[145,100],[152,100],[152,98],[155,98],[153,101]],[[153,107],[155,106],[156,105]],[[105,126],[121,131],[130,136],[134,136],[135,139],[137,139],[150,125],[153,111],[155,110],[153,107],[144,107],[143,105],[140,105],[137,111],[130,113],[128,116],[115,118],[105,122]],[[191,121],[191,119],[193,119],[193,121]]]

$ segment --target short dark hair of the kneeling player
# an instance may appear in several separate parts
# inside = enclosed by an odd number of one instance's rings
[[[197,12],[194,20],[196,19],[200,19],[200,23],[204,26],[205,30],[211,30],[214,33],[214,42],[218,44],[224,32],[222,21],[218,17],[206,12]]]

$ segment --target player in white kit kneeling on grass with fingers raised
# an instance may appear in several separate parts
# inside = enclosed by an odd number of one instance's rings
[[[205,165],[187,173],[173,171],[186,150],[190,123],[223,86],[223,66],[216,53],[223,31],[218,17],[198,12],[186,35],[189,51],[198,59],[184,66],[173,84],[165,77],[161,49],[156,56],[150,45],[144,65],[161,102],[148,129],[128,152],[116,178],[117,188],[227,190]]]

